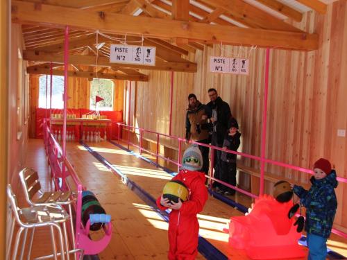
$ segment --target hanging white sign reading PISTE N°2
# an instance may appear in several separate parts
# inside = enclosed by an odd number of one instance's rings
[[[155,66],[155,47],[111,44],[110,62]]]

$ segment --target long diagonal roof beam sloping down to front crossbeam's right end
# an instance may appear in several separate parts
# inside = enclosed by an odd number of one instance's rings
[[[210,3],[215,7],[223,8],[230,14],[239,17],[239,19],[245,20],[246,23],[251,20],[251,23],[259,25],[261,28],[276,30],[276,31],[290,31],[296,33],[303,33],[300,29],[287,24],[285,21],[282,21],[276,17],[273,17],[267,12],[252,6],[249,3],[246,3],[242,0],[200,0],[203,3]]]

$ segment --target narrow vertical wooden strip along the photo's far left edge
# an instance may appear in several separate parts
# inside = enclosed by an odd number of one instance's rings
[[[0,2],[0,230],[6,230],[6,185],[8,173],[8,1]],[[0,234],[0,259],[5,259],[6,232]]]

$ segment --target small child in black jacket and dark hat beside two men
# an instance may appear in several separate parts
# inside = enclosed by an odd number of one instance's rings
[[[237,150],[240,145],[239,124],[231,117],[228,121],[228,133],[224,137],[223,149]],[[222,152],[221,154],[221,180],[232,186],[236,186],[236,157],[233,153]],[[224,195],[235,195],[235,189],[219,184],[217,192]]]

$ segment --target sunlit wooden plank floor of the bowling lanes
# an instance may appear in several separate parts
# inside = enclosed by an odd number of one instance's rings
[[[101,142],[90,143],[90,146],[154,198],[160,196],[162,187],[171,179],[171,175],[160,168],[137,159],[113,144]],[[67,156],[85,187],[96,194],[105,211],[112,216],[112,241],[99,254],[100,259],[167,259],[167,223],[81,144],[67,143]],[[40,180],[48,180],[42,140],[29,141],[26,166],[36,168]],[[49,187],[50,183],[44,182],[44,188]],[[235,199],[243,205],[250,203],[245,196],[237,195]],[[226,254],[228,259],[248,259],[244,251],[233,250],[228,245],[228,234],[223,232],[223,228],[227,227],[230,216],[242,216],[242,213],[210,197],[203,212],[198,215],[200,234]],[[96,233],[92,237],[100,235]],[[37,237],[44,241],[45,237],[49,239],[49,234],[42,232]],[[347,255],[346,240],[333,239],[329,243],[330,248]],[[47,250],[51,253],[50,248],[49,245],[35,243],[33,255],[41,255],[44,251],[47,253]],[[198,255],[197,259],[203,257]]]

